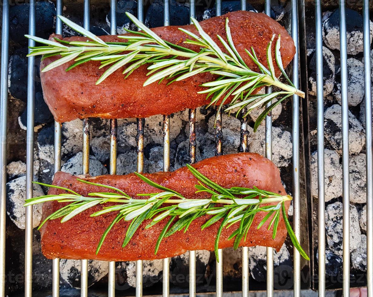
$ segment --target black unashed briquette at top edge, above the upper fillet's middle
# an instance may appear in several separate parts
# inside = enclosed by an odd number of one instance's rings
[[[150,6],[145,17],[145,25],[148,28],[163,26],[163,6],[164,4],[162,0],[150,1]],[[198,12],[195,18],[197,21],[201,21],[201,16],[198,14]],[[189,6],[185,3],[179,3],[176,0],[171,0],[169,21],[170,25],[188,25],[190,23]]]

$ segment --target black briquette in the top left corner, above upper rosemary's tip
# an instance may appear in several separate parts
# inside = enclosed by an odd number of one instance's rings
[[[29,3],[11,5],[9,10],[9,37],[10,40],[25,46],[27,39],[24,37],[28,34],[29,22]],[[51,1],[37,1],[36,3],[36,36],[48,39],[49,35],[54,31],[53,22],[56,15],[56,8]]]

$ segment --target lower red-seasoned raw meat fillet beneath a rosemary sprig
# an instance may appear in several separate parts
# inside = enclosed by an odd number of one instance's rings
[[[271,161],[258,154],[240,153],[217,156],[200,161],[194,164],[193,167],[225,188],[233,186],[252,188],[256,186],[259,189],[286,195],[285,189],[281,184],[278,168]],[[194,186],[198,181],[186,167],[174,172],[144,175],[160,185],[179,192],[186,198],[210,198],[206,193],[195,194],[196,189]],[[136,196],[139,193],[160,191],[140,180],[135,174],[78,177],[95,183],[115,186],[133,198],[139,198]],[[76,178],[77,176],[69,173],[57,172],[54,175],[53,184],[70,188],[81,195],[103,191],[102,187],[78,182]],[[110,190],[105,189],[105,191]],[[59,189],[51,188],[49,194],[61,194],[62,192]],[[287,209],[289,201],[285,205]],[[62,203],[56,201],[44,203],[43,220],[62,206]],[[154,255],[154,248],[167,220],[161,221],[149,229],[144,229],[144,227],[150,221],[143,222],[129,244],[124,248],[122,248],[122,243],[129,222],[122,220],[114,225],[107,235],[101,250],[96,255],[95,251],[101,235],[116,216],[116,213],[108,213],[103,216],[90,217],[90,214],[100,210],[102,207],[102,204],[96,205],[65,223],[60,223],[59,219],[47,221],[41,228],[43,254],[48,259],[58,257],[63,259],[132,261],[172,257],[185,253],[187,250],[214,250],[214,241],[220,224],[213,224],[201,231],[201,225],[211,217],[205,215],[194,220],[186,233],[180,231],[164,238],[157,255]],[[242,240],[240,245],[249,247],[262,245],[273,247],[277,250],[281,248],[287,234],[282,216],[280,217],[276,238],[272,239],[272,229],[270,231],[267,230],[269,222],[257,230],[258,223],[265,215],[266,213],[264,212],[257,213],[248,232],[247,240],[245,242]],[[223,229],[219,248],[233,246],[234,239],[228,240],[228,237],[238,227],[238,224],[236,223],[229,229]]]

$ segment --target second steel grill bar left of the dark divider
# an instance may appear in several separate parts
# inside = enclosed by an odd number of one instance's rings
[[[264,12],[271,16],[271,1],[266,0]],[[272,87],[266,87],[266,93],[272,93]],[[267,103],[266,108],[272,104]],[[266,116],[266,158],[272,161],[272,113]],[[267,296],[273,297],[273,248],[267,247]]]

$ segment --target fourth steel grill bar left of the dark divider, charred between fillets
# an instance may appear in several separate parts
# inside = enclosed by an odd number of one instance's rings
[[[215,1],[216,16],[222,14],[222,1]],[[222,151],[222,111],[216,111],[216,128],[215,128],[215,155],[219,156],[223,154]],[[219,248],[218,256],[219,262],[216,261],[216,297],[223,296],[223,251]]]

